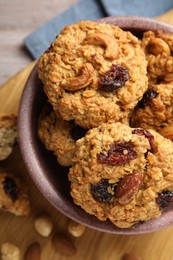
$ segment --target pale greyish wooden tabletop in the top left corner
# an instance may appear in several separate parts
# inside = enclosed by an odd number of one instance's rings
[[[0,0],[0,85],[32,61],[23,39],[78,0]]]

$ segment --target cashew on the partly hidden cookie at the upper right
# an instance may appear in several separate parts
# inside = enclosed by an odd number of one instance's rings
[[[154,38],[148,44],[149,51],[157,56],[158,54],[166,53],[168,56],[171,55],[168,44],[161,38]]]

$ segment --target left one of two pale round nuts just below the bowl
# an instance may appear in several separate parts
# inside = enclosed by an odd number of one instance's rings
[[[40,215],[34,220],[35,230],[43,237],[48,237],[53,229],[53,221],[47,214]]]

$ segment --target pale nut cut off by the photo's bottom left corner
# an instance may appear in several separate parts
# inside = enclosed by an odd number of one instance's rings
[[[2,260],[20,260],[20,249],[11,244],[11,243],[4,243],[1,246],[1,259]]]

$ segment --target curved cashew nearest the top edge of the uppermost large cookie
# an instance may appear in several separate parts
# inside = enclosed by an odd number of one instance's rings
[[[93,45],[101,45],[106,48],[104,56],[108,59],[114,60],[118,55],[118,44],[116,39],[106,33],[92,33],[88,34],[87,42]]]

